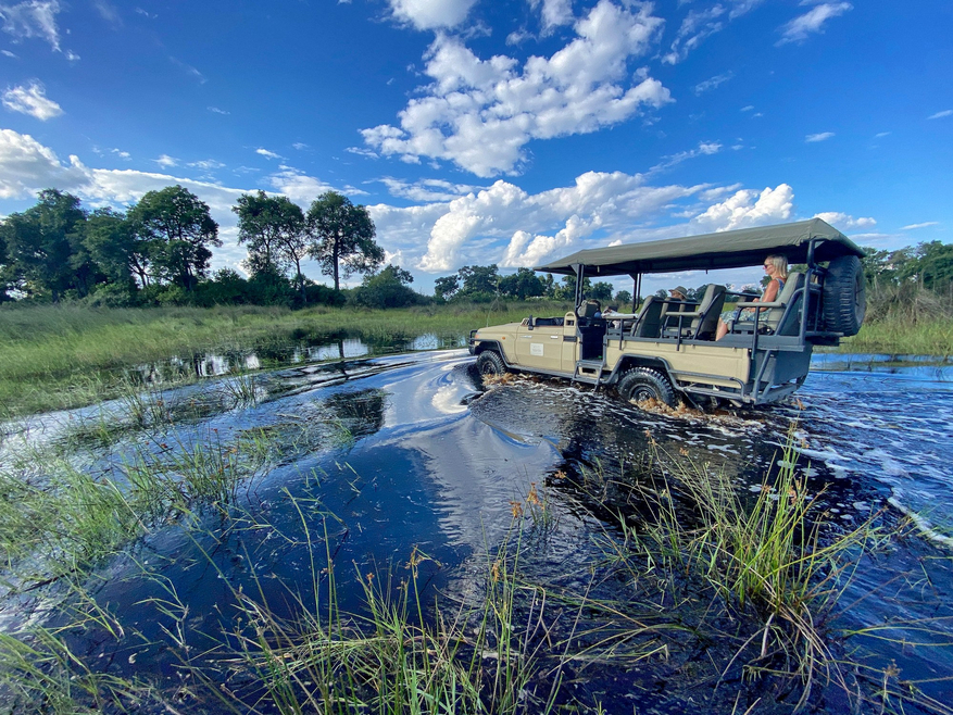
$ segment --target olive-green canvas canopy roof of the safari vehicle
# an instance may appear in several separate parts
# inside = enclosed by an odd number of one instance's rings
[[[761,263],[773,253],[786,255],[790,263],[806,263],[812,239],[816,241],[816,262],[830,261],[839,255],[864,255],[864,251],[837,228],[820,218],[812,218],[793,224],[588,249],[535,269],[574,275],[576,266],[581,265],[585,275],[591,278],[600,275],[739,268]]]

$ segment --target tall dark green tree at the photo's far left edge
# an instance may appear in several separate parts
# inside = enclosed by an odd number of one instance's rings
[[[3,222],[9,277],[27,294],[49,291],[53,302],[71,289],[86,296],[97,276],[83,243],[86,212],[79,199],[58,189],[45,189],[38,199]]]

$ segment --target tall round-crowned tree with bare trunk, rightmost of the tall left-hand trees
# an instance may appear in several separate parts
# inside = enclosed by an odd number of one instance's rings
[[[308,210],[309,254],[321,264],[321,272],[333,276],[340,290],[340,274],[373,273],[384,263],[384,249],[374,242],[377,235],[367,209],[354,205],[337,191],[322,193]]]

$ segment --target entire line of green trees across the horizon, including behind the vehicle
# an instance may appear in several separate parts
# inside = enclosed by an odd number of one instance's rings
[[[518,268],[500,275],[496,264],[467,265],[437,278],[434,296],[411,288],[413,276],[383,266],[374,222],[363,205],[327,191],[303,211],[287,197],[264,191],[239,197],[238,241],[248,254],[247,277],[231,268],[210,272],[212,249],[222,246],[209,206],[181,186],[146,193],[126,212],[88,211],[79,199],[46,189],[37,203],[0,221],[0,303],[81,301],[90,305],[313,304],[403,308],[498,299],[570,301],[575,276],[556,280]],[[301,271],[313,260],[331,286]],[[895,251],[867,249],[870,292],[908,302],[912,290],[953,297],[953,246],[932,241]],[[341,279],[363,276],[341,289]],[[697,299],[705,286],[688,289]],[[603,305],[631,305],[627,290],[585,279],[584,293]],[[660,296],[667,292],[659,291]]]

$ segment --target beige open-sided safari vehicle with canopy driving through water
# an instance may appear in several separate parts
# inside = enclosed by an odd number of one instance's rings
[[[601,316],[585,300],[585,278],[628,275],[639,296],[653,273],[761,266],[785,255],[791,271],[773,302],[711,284],[698,302],[645,299],[638,311]],[[578,251],[536,271],[576,277],[575,310],[473,330],[469,350],[484,375],[540,373],[615,388],[625,400],[678,397],[698,406],[776,402],[807,377],[814,346],[857,333],[866,299],[864,252],[819,218],[763,228]],[[638,300],[638,299],[637,299]],[[715,340],[726,300],[754,312]]]

